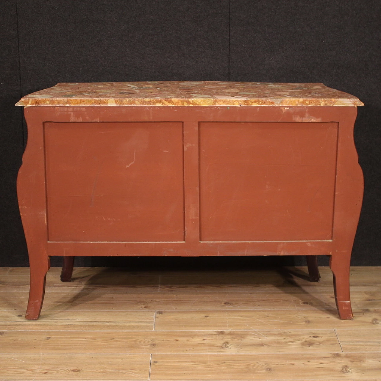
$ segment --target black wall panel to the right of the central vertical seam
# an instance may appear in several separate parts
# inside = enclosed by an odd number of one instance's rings
[[[380,7],[369,0],[231,0],[231,81],[323,82],[365,103],[355,126],[365,176],[357,266],[381,265]]]

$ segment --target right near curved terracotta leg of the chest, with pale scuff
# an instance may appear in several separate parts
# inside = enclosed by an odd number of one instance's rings
[[[331,256],[330,268],[333,273],[333,290],[340,319],[352,319],[351,297],[349,295],[349,259]]]

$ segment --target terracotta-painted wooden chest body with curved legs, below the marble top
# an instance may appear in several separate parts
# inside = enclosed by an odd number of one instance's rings
[[[352,318],[349,261],[363,189],[356,107],[24,112],[27,319],[38,318],[52,255],[329,255],[339,315]]]

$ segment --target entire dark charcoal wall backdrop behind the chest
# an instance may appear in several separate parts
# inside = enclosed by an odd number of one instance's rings
[[[16,176],[21,96],[58,82],[323,82],[359,97],[365,195],[352,265],[381,266],[380,18],[373,0],[2,0],[0,266],[27,266]],[[295,262],[294,262],[295,261]],[[247,267],[302,258],[77,258],[77,265]],[[327,264],[323,259],[322,264]],[[53,265],[60,259],[54,258]]]

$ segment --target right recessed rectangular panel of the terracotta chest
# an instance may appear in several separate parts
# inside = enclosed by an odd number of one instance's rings
[[[200,123],[202,241],[329,240],[337,123]]]

